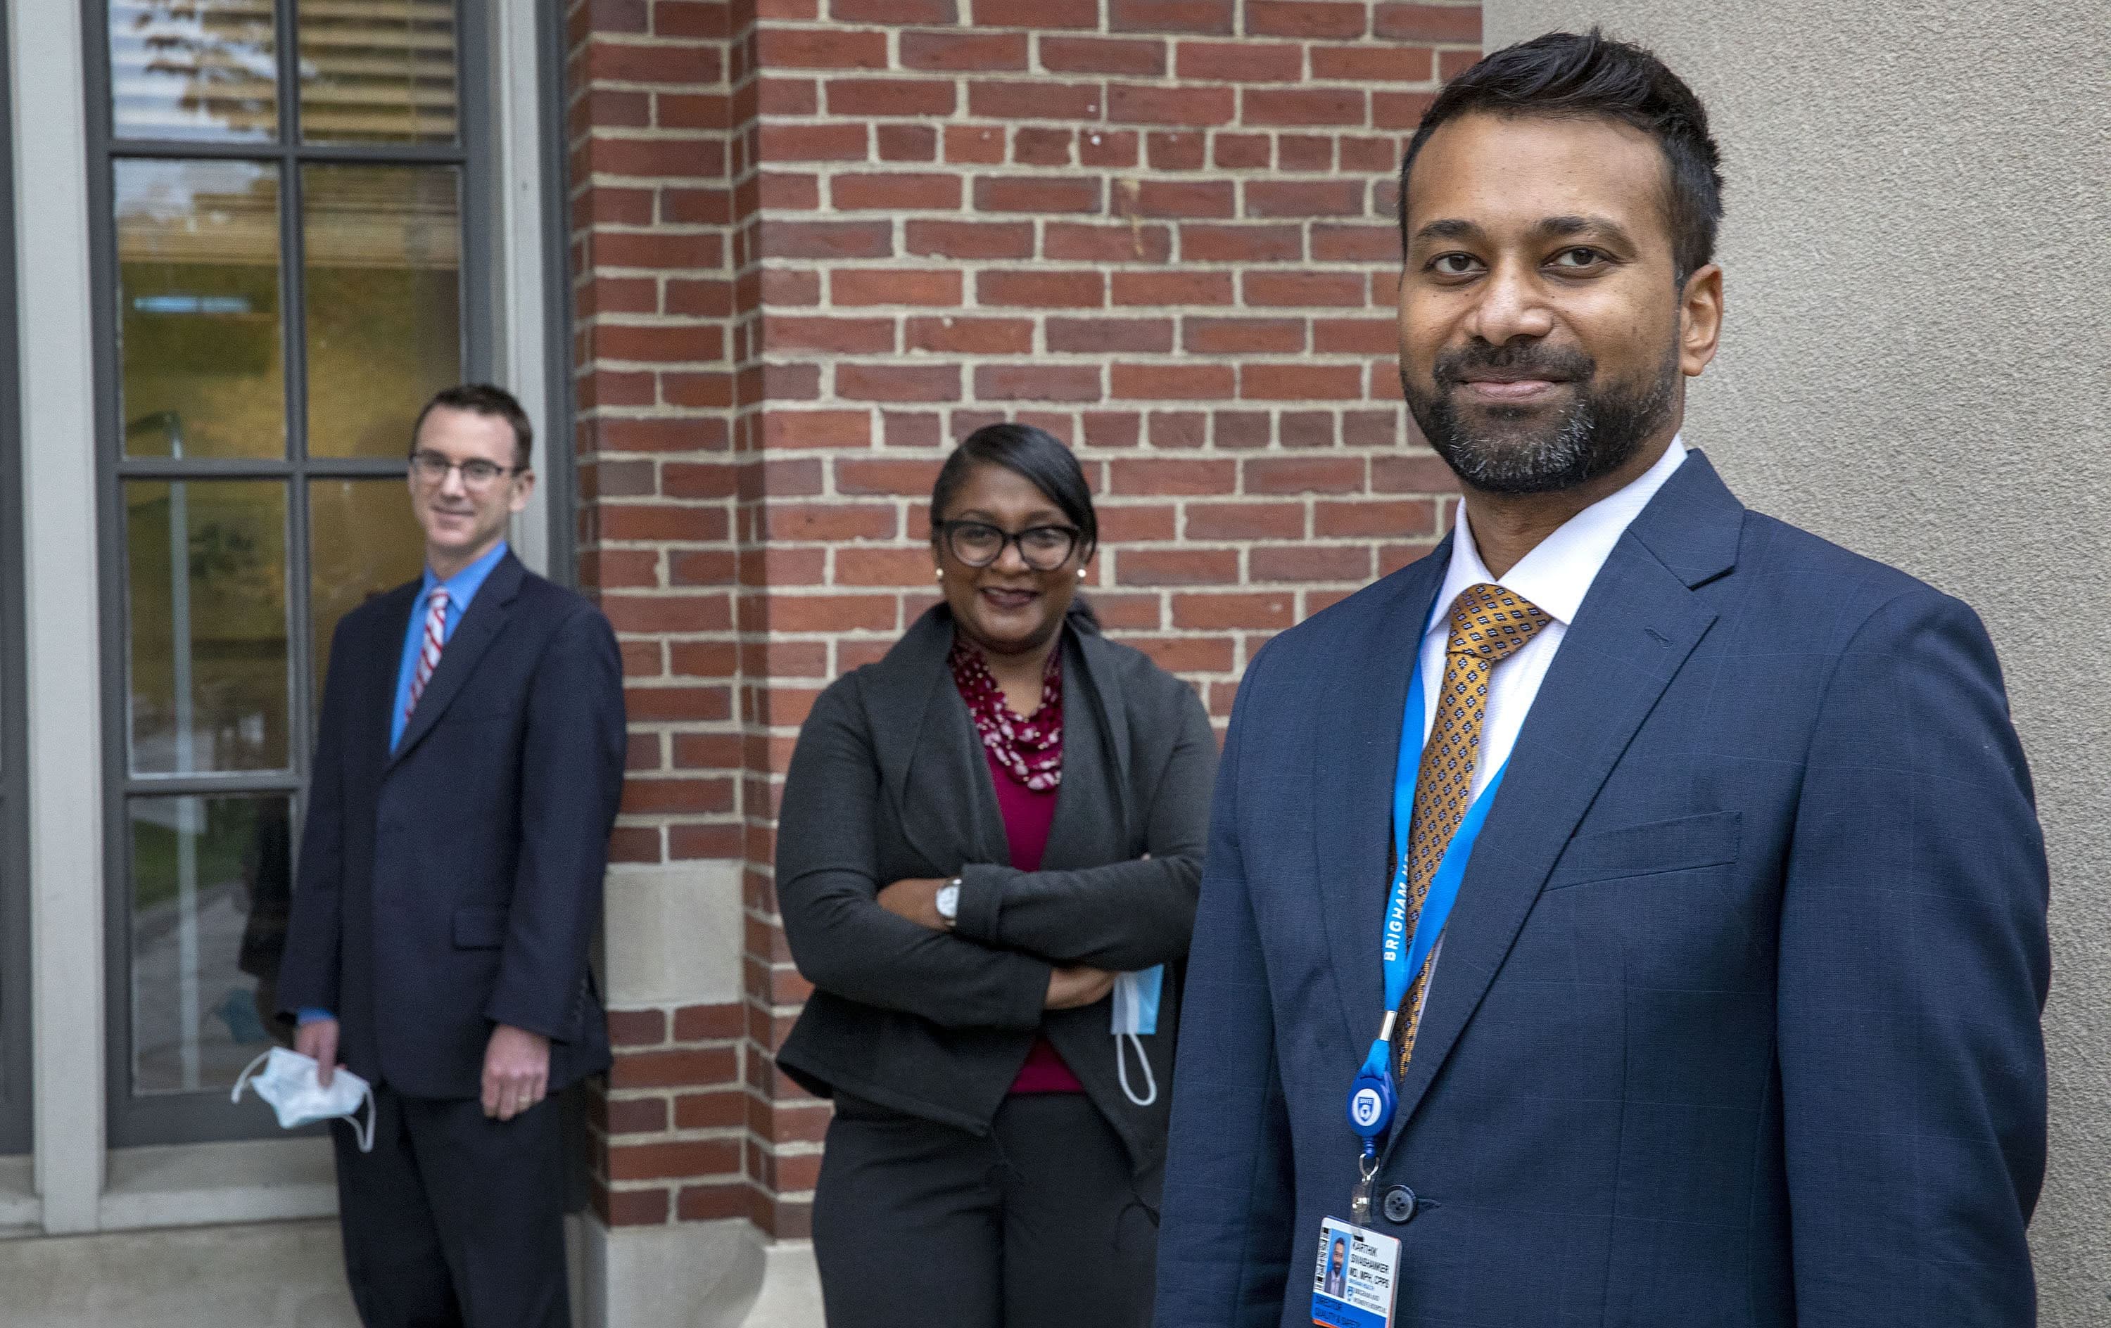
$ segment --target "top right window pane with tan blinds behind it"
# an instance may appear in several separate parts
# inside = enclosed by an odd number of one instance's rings
[[[454,141],[454,0],[302,4],[300,137]]]

